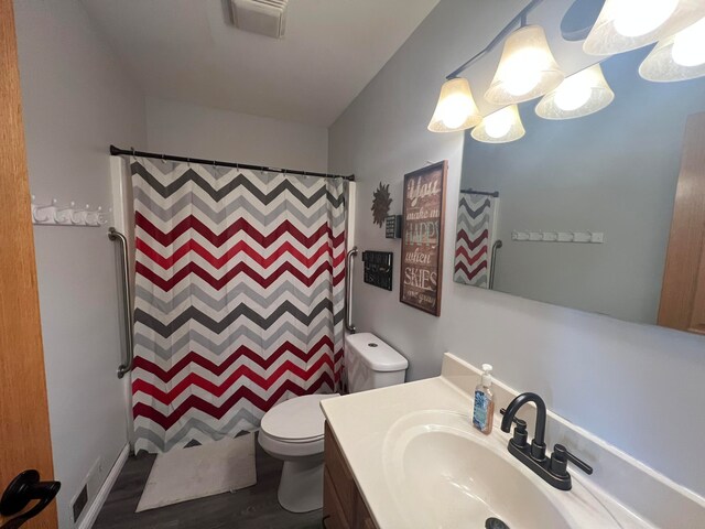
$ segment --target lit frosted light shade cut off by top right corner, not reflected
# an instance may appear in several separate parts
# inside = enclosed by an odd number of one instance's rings
[[[607,0],[583,50],[614,55],[665,39],[705,17],[703,0]]]

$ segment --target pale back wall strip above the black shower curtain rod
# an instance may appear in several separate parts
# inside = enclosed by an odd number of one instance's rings
[[[147,136],[152,152],[316,172],[328,168],[325,127],[148,97]]]

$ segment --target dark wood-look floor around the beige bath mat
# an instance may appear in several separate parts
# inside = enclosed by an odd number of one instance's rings
[[[94,529],[318,529],[321,511],[294,515],[276,501],[282,462],[257,444],[257,485],[232,494],[135,514],[154,462],[153,454],[128,460]]]

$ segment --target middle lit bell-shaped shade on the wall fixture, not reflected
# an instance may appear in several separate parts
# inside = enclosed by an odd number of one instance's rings
[[[485,99],[513,105],[543,96],[561,84],[561,72],[540,25],[528,25],[507,37],[492,84]]]

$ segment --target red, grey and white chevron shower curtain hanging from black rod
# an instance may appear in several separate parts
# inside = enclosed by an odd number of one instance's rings
[[[259,427],[332,391],[343,358],[343,180],[139,159],[135,450]]]

